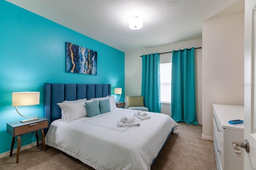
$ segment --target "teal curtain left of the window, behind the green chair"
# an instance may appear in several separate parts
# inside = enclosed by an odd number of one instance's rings
[[[159,54],[142,55],[141,96],[148,111],[160,113],[160,59]]]

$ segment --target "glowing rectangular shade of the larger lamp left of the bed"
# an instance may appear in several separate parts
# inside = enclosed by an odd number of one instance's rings
[[[30,106],[40,103],[40,92],[13,92],[12,106]]]

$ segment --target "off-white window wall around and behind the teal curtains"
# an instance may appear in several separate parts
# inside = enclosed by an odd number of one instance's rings
[[[164,53],[172,50],[191,47],[202,47],[202,39],[185,41],[175,44],[160,45],[152,48],[140,49],[125,53],[125,99],[126,96],[141,95],[142,59],[141,55],[150,53]],[[172,53],[169,53],[170,57]],[[161,55],[160,55],[161,60]],[[196,71],[196,114],[198,122],[202,122],[202,49],[195,50]],[[127,106],[127,100],[126,100]],[[161,104],[161,113],[170,115],[170,104]]]

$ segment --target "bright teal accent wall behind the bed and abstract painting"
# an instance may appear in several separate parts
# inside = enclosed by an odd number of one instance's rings
[[[0,11],[0,154],[11,146],[6,123],[24,119],[12,107],[12,92],[39,91],[39,105],[18,109],[24,115],[40,117],[44,82],[109,83],[112,94],[115,87],[124,94],[124,52],[4,0],[0,0]],[[97,51],[96,76],[65,72],[65,42]],[[34,141],[30,133],[24,145]]]

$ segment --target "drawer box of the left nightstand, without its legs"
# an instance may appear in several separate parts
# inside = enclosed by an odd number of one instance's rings
[[[7,124],[7,132],[13,137],[15,137],[15,136],[23,135],[25,133],[30,133],[33,131],[38,131],[40,129],[45,129],[47,127],[48,127],[48,120],[46,119],[45,121],[40,121],[36,123],[26,123],[25,125],[21,125],[17,127],[12,127]]]

